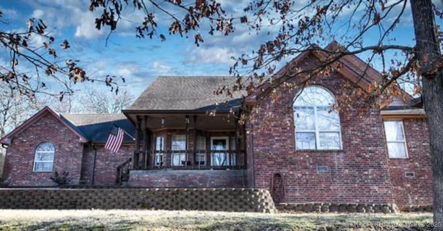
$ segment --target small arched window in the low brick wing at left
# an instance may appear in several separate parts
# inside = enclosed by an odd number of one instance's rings
[[[53,172],[55,147],[50,142],[42,142],[35,149],[34,172]]]

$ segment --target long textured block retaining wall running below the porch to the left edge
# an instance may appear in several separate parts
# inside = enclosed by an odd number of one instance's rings
[[[275,212],[257,189],[0,189],[0,209],[210,210]]]

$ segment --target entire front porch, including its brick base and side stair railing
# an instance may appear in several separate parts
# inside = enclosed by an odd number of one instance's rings
[[[117,183],[138,187],[245,187],[244,127],[232,114],[127,113],[136,125],[134,156]],[[127,176],[124,177],[125,172]]]

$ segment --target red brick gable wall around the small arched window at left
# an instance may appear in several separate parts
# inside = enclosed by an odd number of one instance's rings
[[[55,146],[54,171],[69,172],[72,183],[80,180],[83,144],[53,115],[46,114],[28,129],[12,138],[6,153],[3,184],[9,186],[48,186],[53,172],[33,172],[35,148],[42,142]]]

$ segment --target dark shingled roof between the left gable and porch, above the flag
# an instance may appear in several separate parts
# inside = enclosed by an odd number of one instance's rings
[[[105,143],[114,125],[134,136],[135,128],[123,114],[60,114],[91,142]],[[134,142],[125,134],[123,142]]]

